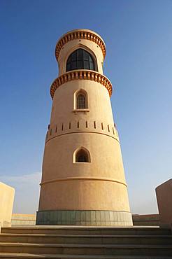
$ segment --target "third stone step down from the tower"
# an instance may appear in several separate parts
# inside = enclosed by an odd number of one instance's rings
[[[39,253],[66,255],[163,255],[172,258],[171,245],[122,244],[29,244],[0,243],[0,253]]]

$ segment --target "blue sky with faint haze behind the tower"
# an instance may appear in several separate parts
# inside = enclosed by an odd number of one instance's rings
[[[38,209],[55,45],[78,28],[106,42],[131,211],[157,213],[155,187],[172,175],[171,0],[0,1],[0,181],[15,213]]]

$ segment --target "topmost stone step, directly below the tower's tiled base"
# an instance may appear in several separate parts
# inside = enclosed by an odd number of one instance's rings
[[[54,235],[171,235],[171,230],[160,228],[102,228],[102,227],[12,227],[1,228],[1,233]]]

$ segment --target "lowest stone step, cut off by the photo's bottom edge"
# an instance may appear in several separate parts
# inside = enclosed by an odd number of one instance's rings
[[[0,253],[0,258],[6,259],[170,259],[171,256],[138,256],[138,255],[64,255],[64,254],[56,254],[56,255],[43,255],[43,254],[31,254],[31,253]]]

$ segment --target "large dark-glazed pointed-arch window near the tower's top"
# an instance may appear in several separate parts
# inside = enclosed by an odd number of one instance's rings
[[[95,70],[92,55],[87,50],[83,50],[83,48],[73,51],[67,60],[66,72],[76,69]]]

